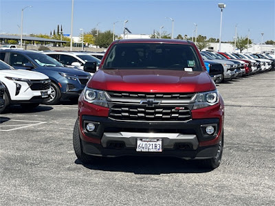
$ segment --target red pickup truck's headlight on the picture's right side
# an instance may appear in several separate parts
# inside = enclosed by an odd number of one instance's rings
[[[212,106],[219,102],[219,94],[217,90],[197,93],[197,98],[192,109],[204,108]]]

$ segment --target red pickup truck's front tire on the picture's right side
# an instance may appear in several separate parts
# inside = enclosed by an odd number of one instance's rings
[[[223,155],[223,137],[221,138],[221,141],[219,141],[219,148],[217,150],[215,157],[213,157],[212,159],[202,159],[200,161],[200,164],[203,168],[214,170],[215,168],[219,167],[221,163],[222,155]]]

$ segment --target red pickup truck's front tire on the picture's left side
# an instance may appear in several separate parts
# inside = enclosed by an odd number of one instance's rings
[[[76,157],[82,163],[92,163],[96,161],[96,157],[91,157],[83,152],[83,148],[81,145],[81,139],[79,137],[79,121],[76,120],[76,124],[74,124],[74,133],[73,133],[73,145],[74,152],[76,153]]]

